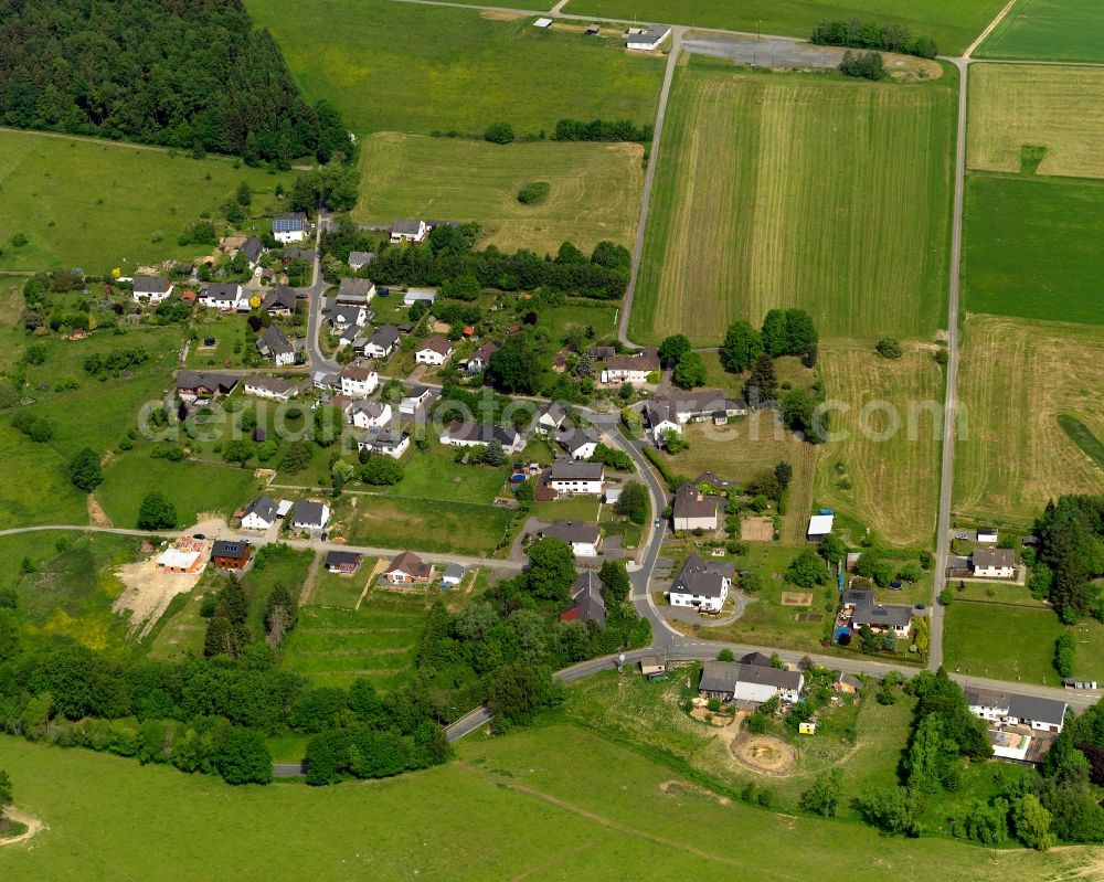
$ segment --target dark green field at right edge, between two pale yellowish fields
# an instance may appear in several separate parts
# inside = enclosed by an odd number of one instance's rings
[[[970,312],[1104,325],[1104,181],[968,174],[964,223]]]

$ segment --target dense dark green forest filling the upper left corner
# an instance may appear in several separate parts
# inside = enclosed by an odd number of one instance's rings
[[[285,168],[350,152],[241,0],[0,0],[0,123]]]

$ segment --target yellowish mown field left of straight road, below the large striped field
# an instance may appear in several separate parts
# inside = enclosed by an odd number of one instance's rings
[[[846,437],[822,445],[816,504],[866,524],[889,545],[927,546],[935,529],[944,378],[934,352],[905,344],[904,357],[891,361],[856,343],[820,349],[825,391],[838,403],[829,431]]]

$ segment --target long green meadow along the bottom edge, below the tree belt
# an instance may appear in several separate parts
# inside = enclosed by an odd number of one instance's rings
[[[31,847],[0,849],[0,872],[12,879],[306,879],[352,867],[384,881],[416,872],[459,882],[522,874],[538,882],[626,875],[648,882],[670,879],[677,865],[688,878],[718,882],[888,875],[981,882],[995,870],[1006,879],[1072,879],[1079,868],[1091,874],[1097,860],[1087,848],[990,853],[935,838],[889,848],[862,825],[722,801],[660,762],[574,725],[464,742],[448,765],[328,788],[230,787],[164,766],[2,737],[19,807],[49,827]],[[137,804],[146,810],[136,812]],[[258,817],[265,822],[256,823]],[[314,832],[302,848],[307,817]],[[686,829],[714,836],[691,846],[679,832]],[[842,837],[847,860],[826,862]],[[764,862],[762,850],[733,849],[733,841],[769,841],[785,860]],[[365,851],[364,842],[372,848]],[[166,850],[174,860],[164,860]]]

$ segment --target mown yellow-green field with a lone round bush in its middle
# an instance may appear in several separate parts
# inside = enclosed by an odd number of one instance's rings
[[[636,144],[511,144],[379,132],[361,153],[361,199],[352,216],[385,225],[395,217],[476,221],[502,251],[555,254],[563,242],[590,252],[604,240],[636,238],[644,148]],[[461,173],[457,173],[463,170]],[[523,205],[528,183],[551,184]]]

